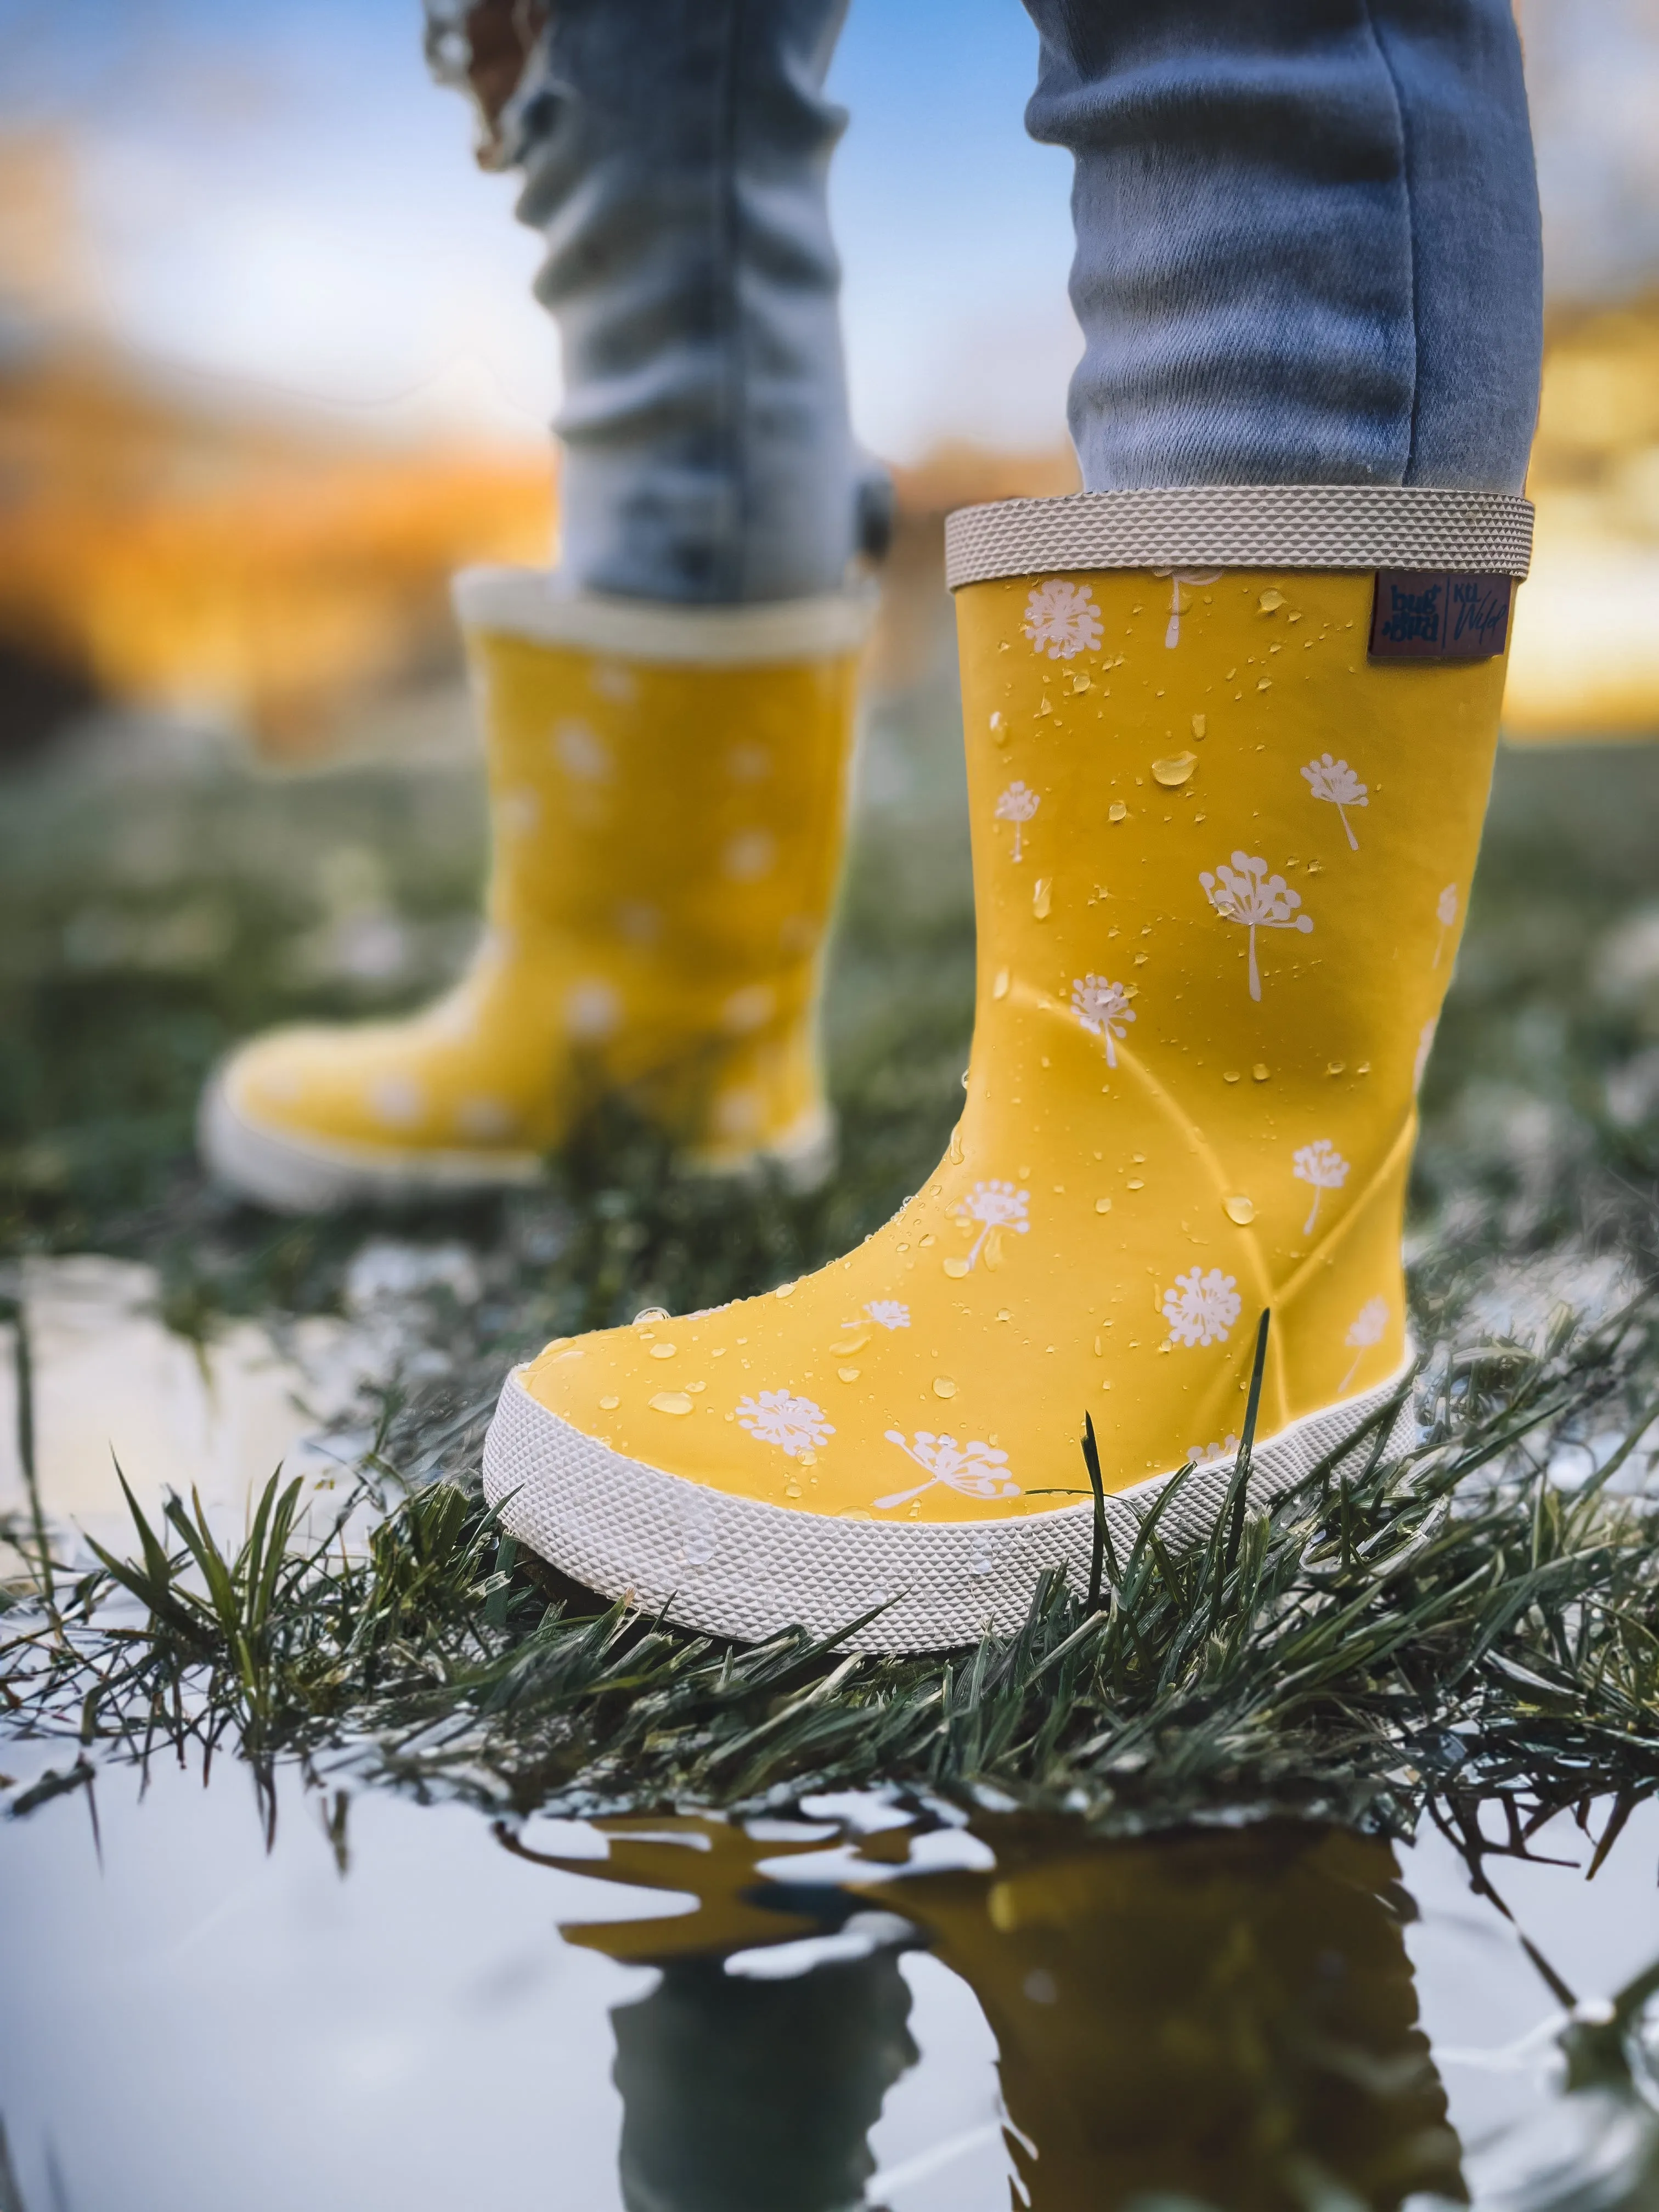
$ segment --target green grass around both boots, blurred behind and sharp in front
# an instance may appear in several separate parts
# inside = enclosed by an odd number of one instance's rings
[[[341,1526],[274,1480],[228,1546],[173,1500],[155,1524],[135,1509],[124,1555],[11,1593],[0,1694],[73,1745],[13,1809],[93,1756],[168,1743],[263,1770],[345,1759],[502,1809],[880,1781],[1104,1827],[1276,1805],[1405,1832],[1429,1803],[1464,1832],[1500,1798],[1522,1840],[1562,1805],[1659,1785],[1659,1531],[1608,1486],[1630,1464],[1613,1438],[1659,1400],[1659,748],[1502,768],[1425,1093],[1420,1449],[1360,1440],[1267,1517],[1241,1495],[1194,1553],[1155,1524],[1130,1559],[1102,1546],[1093,1588],[1051,1582],[1015,1637],[945,1659],[847,1661],[801,1635],[723,1648],[602,1608],[502,1537],[476,1464],[509,1360],[812,1267],[938,1157],[971,1011],[956,745],[940,690],[874,732],[830,995],[830,1190],[679,1181],[611,1110],[546,1190],[405,1221],[462,1239],[480,1294],[403,1303],[407,1374]],[[190,1164],[195,1093],[259,1022],[429,989],[465,940],[478,834],[453,759],[288,783],[104,759],[18,783],[0,810],[9,1250],[148,1259],[199,1338],[228,1312],[338,1307],[385,1223],[272,1223],[215,1197]],[[1597,1321],[1615,1279],[1635,1303]],[[1590,1318],[1544,1327],[1557,1296]],[[1568,1462],[1599,1473],[1568,1489]],[[46,1559],[27,1517],[13,1540]]]

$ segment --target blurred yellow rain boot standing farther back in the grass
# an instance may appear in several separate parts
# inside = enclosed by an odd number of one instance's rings
[[[456,604],[495,845],[478,956],[411,1020],[246,1044],[204,1097],[208,1166],[281,1210],[489,1190],[628,1093],[695,1166],[818,1179],[869,597],[681,608],[473,568]]]

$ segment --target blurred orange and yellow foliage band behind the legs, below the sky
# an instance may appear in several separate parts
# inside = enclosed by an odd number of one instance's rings
[[[354,440],[139,367],[69,181],[58,142],[0,142],[0,655],[325,750],[367,690],[458,666],[456,566],[551,557],[551,451]],[[1075,482],[1068,447],[898,471],[878,688],[949,661],[945,513]],[[1659,296],[1553,316],[1531,491],[1509,732],[1659,732]]]

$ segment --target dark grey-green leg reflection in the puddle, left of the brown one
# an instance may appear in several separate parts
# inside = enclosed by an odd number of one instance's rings
[[[865,2137],[916,2062],[891,1951],[776,1982],[681,1958],[611,2015],[628,2212],[843,2212]]]

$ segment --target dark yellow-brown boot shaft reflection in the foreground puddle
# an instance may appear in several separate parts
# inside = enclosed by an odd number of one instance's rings
[[[1462,2201],[1387,1845],[1292,1823],[987,1836],[995,1876],[880,1896],[984,2006],[1033,2212]]]

